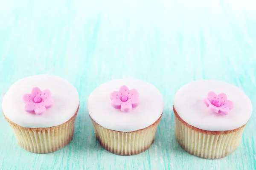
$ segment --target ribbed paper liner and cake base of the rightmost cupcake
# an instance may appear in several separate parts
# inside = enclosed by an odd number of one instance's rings
[[[207,131],[184,122],[175,113],[175,136],[186,152],[204,158],[219,159],[232,153],[239,146],[245,125],[235,130]]]

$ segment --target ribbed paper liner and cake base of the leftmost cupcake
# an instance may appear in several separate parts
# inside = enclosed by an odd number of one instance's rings
[[[46,128],[21,127],[5,118],[12,127],[20,147],[33,153],[51,153],[69,144],[73,138],[77,111],[67,122]]]

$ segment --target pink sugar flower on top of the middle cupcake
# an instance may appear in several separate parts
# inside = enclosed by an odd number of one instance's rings
[[[135,89],[129,90],[123,85],[119,91],[110,94],[111,106],[123,112],[129,112],[140,105],[139,92]]]

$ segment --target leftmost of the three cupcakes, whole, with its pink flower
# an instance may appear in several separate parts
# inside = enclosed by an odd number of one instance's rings
[[[51,153],[73,138],[79,95],[61,77],[35,75],[15,82],[3,97],[2,108],[20,147]]]

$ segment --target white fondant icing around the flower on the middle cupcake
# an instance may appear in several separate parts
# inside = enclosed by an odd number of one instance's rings
[[[111,107],[110,94],[122,85],[139,92],[140,105],[130,112]],[[87,109],[90,117],[102,127],[132,132],[152,125],[163,113],[163,97],[153,85],[138,79],[116,79],[105,82],[89,96]]]

